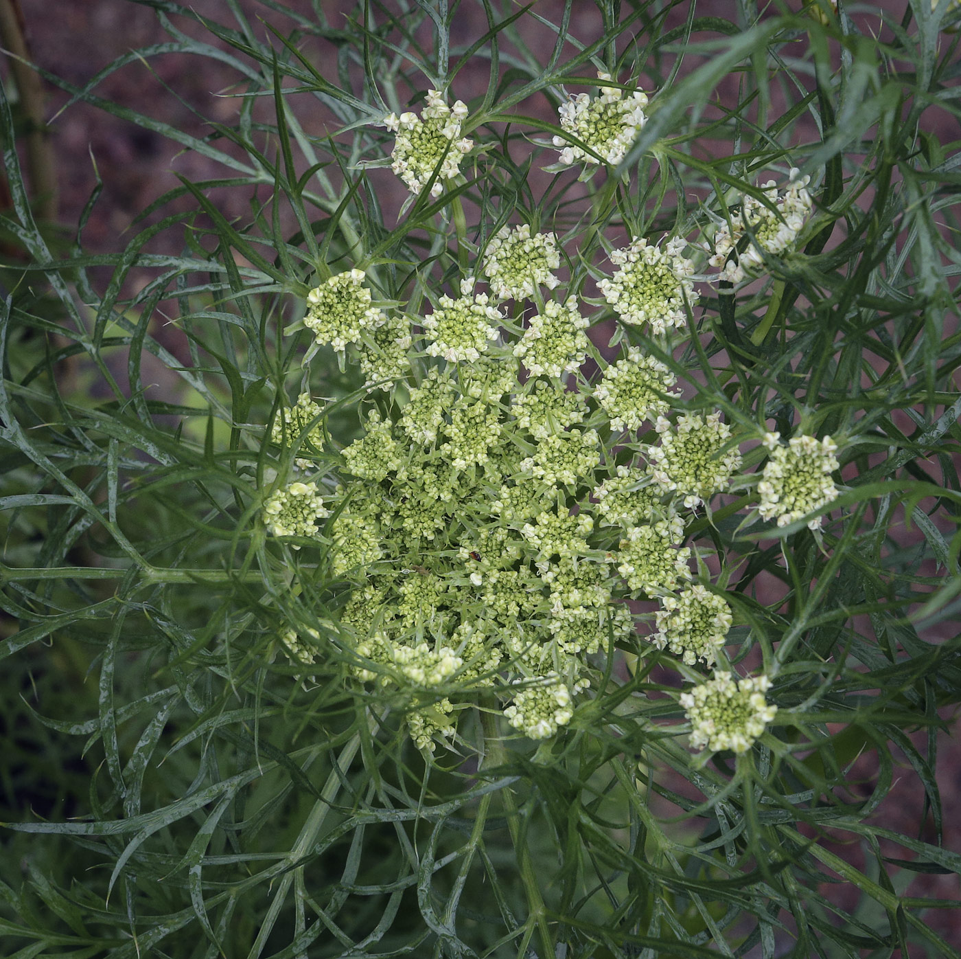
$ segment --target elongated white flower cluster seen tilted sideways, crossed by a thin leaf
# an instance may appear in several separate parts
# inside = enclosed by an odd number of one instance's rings
[[[777,256],[791,249],[801,227],[811,213],[811,194],[805,189],[810,177],[801,177],[792,168],[787,189],[779,192],[775,181],[769,180],[764,190],[766,203],[745,194],[741,210],[730,214],[714,234],[713,248],[708,263],[721,269],[721,279],[740,283],[764,268],[765,255]],[[750,242],[739,249],[745,236]]]

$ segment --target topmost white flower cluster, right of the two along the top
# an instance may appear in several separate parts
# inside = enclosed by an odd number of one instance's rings
[[[610,74],[598,73],[598,79],[610,81]],[[554,146],[560,149],[560,162],[568,166],[579,161],[584,164],[600,164],[602,161],[619,164],[647,120],[644,114],[647,105],[646,93],[635,89],[625,97],[624,91],[618,87],[602,87],[600,95],[594,98],[579,93],[561,104],[560,127],[580,142],[575,143],[568,137],[554,137]],[[588,153],[580,143],[592,152]]]

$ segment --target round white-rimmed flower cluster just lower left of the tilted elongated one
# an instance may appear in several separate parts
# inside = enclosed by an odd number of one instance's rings
[[[681,256],[686,245],[675,238],[661,249],[659,244],[652,246],[639,237],[624,249],[611,252],[610,262],[619,268],[598,287],[625,323],[650,323],[652,332],[658,335],[669,327],[687,325],[687,309],[694,306],[697,297],[690,279],[694,263]]]

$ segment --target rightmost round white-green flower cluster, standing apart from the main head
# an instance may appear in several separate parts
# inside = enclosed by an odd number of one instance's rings
[[[829,436],[820,441],[796,436],[786,446],[778,442],[779,438],[778,433],[768,433],[764,438],[771,457],[757,484],[761,496],[758,513],[765,519],[777,517],[777,525],[786,526],[837,498],[831,473],[840,464],[834,455],[837,444]],[[822,518],[814,517],[807,525],[817,529]]]

